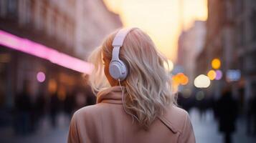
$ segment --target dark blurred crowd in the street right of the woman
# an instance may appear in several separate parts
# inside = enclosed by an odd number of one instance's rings
[[[241,89],[242,90],[242,89]],[[225,88],[220,97],[208,95],[202,92],[202,99],[196,99],[196,93],[191,97],[186,97],[182,92],[178,93],[178,104],[189,112],[191,108],[199,109],[200,115],[204,118],[204,114],[208,110],[214,112],[214,117],[219,124],[219,132],[224,134],[224,142],[232,142],[232,134],[236,132],[236,121],[238,118],[245,119],[247,127],[247,135],[256,136],[256,95],[252,95],[244,104],[245,97],[240,91],[238,97],[232,95],[230,88]]]

